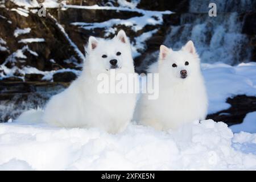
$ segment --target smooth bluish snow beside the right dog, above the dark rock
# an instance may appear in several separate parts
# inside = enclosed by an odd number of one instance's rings
[[[208,114],[229,109],[226,99],[239,94],[256,96],[256,63],[230,66],[224,63],[202,64],[207,86]]]

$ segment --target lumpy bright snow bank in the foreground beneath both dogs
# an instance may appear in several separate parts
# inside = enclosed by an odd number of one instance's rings
[[[256,134],[225,123],[192,123],[164,133],[132,123],[117,135],[98,129],[0,124],[0,170],[256,169]]]

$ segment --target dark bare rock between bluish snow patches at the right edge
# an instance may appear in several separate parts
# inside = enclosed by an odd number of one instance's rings
[[[231,105],[229,109],[210,114],[207,119],[222,121],[231,126],[242,123],[247,113],[256,111],[256,97],[241,95],[228,98],[226,102]]]

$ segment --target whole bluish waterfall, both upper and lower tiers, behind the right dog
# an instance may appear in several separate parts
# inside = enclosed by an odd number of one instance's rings
[[[217,5],[216,17],[208,15],[210,2]],[[177,13],[180,23],[170,26],[163,44],[176,50],[192,40],[202,63],[221,61],[236,65],[252,61],[253,48],[242,29],[246,14],[255,10],[255,0],[190,0],[187,12]],[[158,53],[145,56],[137,70],[143,71],[156,61]]]

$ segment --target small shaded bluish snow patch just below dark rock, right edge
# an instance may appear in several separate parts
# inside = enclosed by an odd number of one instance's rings
[[[240,133],[240,131],[256,133],[256,111],[246,114],[241,124],[230,126],[230,129],[233,133]]]

